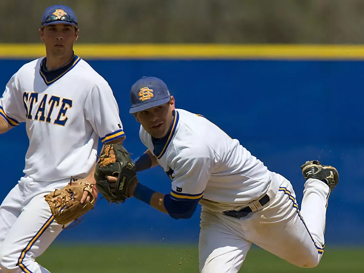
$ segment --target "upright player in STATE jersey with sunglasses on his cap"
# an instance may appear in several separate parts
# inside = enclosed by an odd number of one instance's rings
[[[26,123],[29,148],[24,177],[0,206],[0,272],[45,273],[35,262],[62,230],[44,195],[70,178],[95,183],[98,140],[122,142],[123,126],[112,90],[74,55],[78,22],[71,8],[46,9],[39,29],[46,57],[22,66],[0,99],[0,133]],[[90,198],[84,192],[82,201]]]

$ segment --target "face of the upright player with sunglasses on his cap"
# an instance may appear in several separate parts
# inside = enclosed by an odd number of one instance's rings
[[[39,29],[40,39],[46,45],[47,54],[63,56],[72,51],[79,30],[70,24],[46,25]]]

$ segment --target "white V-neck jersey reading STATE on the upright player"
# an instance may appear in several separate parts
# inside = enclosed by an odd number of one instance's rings
[[[41,73],[42,59],[12,76],[0,115],[11,126],[26,122],[26,175],[36,181],[85,177],[96,161],[98,138],[124,135],[118,105],[106,80],[78,56],[53,79]]]

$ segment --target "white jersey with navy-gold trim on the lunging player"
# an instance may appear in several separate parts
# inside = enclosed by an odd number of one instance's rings
[[[171,196],[200,199],[213,211],[230,210],[268,191],[271,172],[237,139],[231,139],[206,118],[174,110],[169,134],[152,138],[141,126],[143,144],[157,158],[172,182]]]

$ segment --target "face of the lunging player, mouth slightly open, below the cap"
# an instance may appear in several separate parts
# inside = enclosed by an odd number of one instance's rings
[[[137,112],[135,118],[142,124],[144,130],[154,138],[164,137],[173,121],[174,98],[165,104]]]

